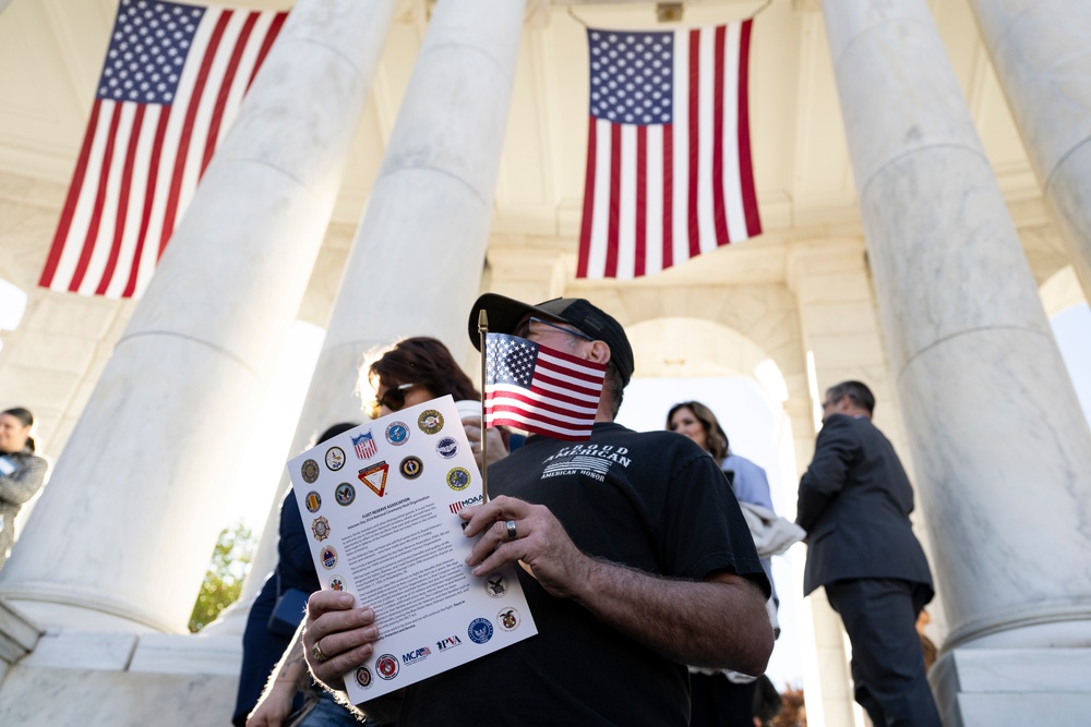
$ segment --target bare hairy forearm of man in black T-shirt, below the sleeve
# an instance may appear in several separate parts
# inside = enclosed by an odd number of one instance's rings
[[[731,573],[670,580],[589,559],[571,597],[630,638],[680,664],[765,671],[772,627],[757,586]]]

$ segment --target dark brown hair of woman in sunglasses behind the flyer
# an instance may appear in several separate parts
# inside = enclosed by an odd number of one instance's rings
[[[425,336],[406,338],[395,343],[393,349],[368,368],[368,380],[376,390],[380,383],[387,388],[399,384],[417,384],[436,397],[449,393],[455,401],[481,398],[447,347],[442,341]]]

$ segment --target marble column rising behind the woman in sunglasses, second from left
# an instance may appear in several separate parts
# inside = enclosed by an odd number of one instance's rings
[[[364,354],[398,338],[433,336],[456,361],[480,292],[525,0],[435,5],[357,232],[292,443],[360,421]],[[475,377],[476,379],[476,377]],[[367,381],[363,396],[370,397]],[[287,489],[280,483],[276,502]],[[275,513],[243,597],[273,567]]]

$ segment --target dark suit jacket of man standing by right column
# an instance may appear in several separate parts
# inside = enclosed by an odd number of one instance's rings
[[[866,417],[830,415],[800,480],[796,522],[810,537],[804,595],[863,578],[897,578],[931,590],[912,511],[913,488],[890,441]]]

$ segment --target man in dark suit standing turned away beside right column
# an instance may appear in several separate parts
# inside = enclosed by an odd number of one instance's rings
[[[932,573],[909,521],[913,488],[872,424],[874,408],[860,381],[826,391],[814,460],[800,480],[803,592],[826,587],[852,643],[856,702],[876,726],[938,726],[915,629]]]

